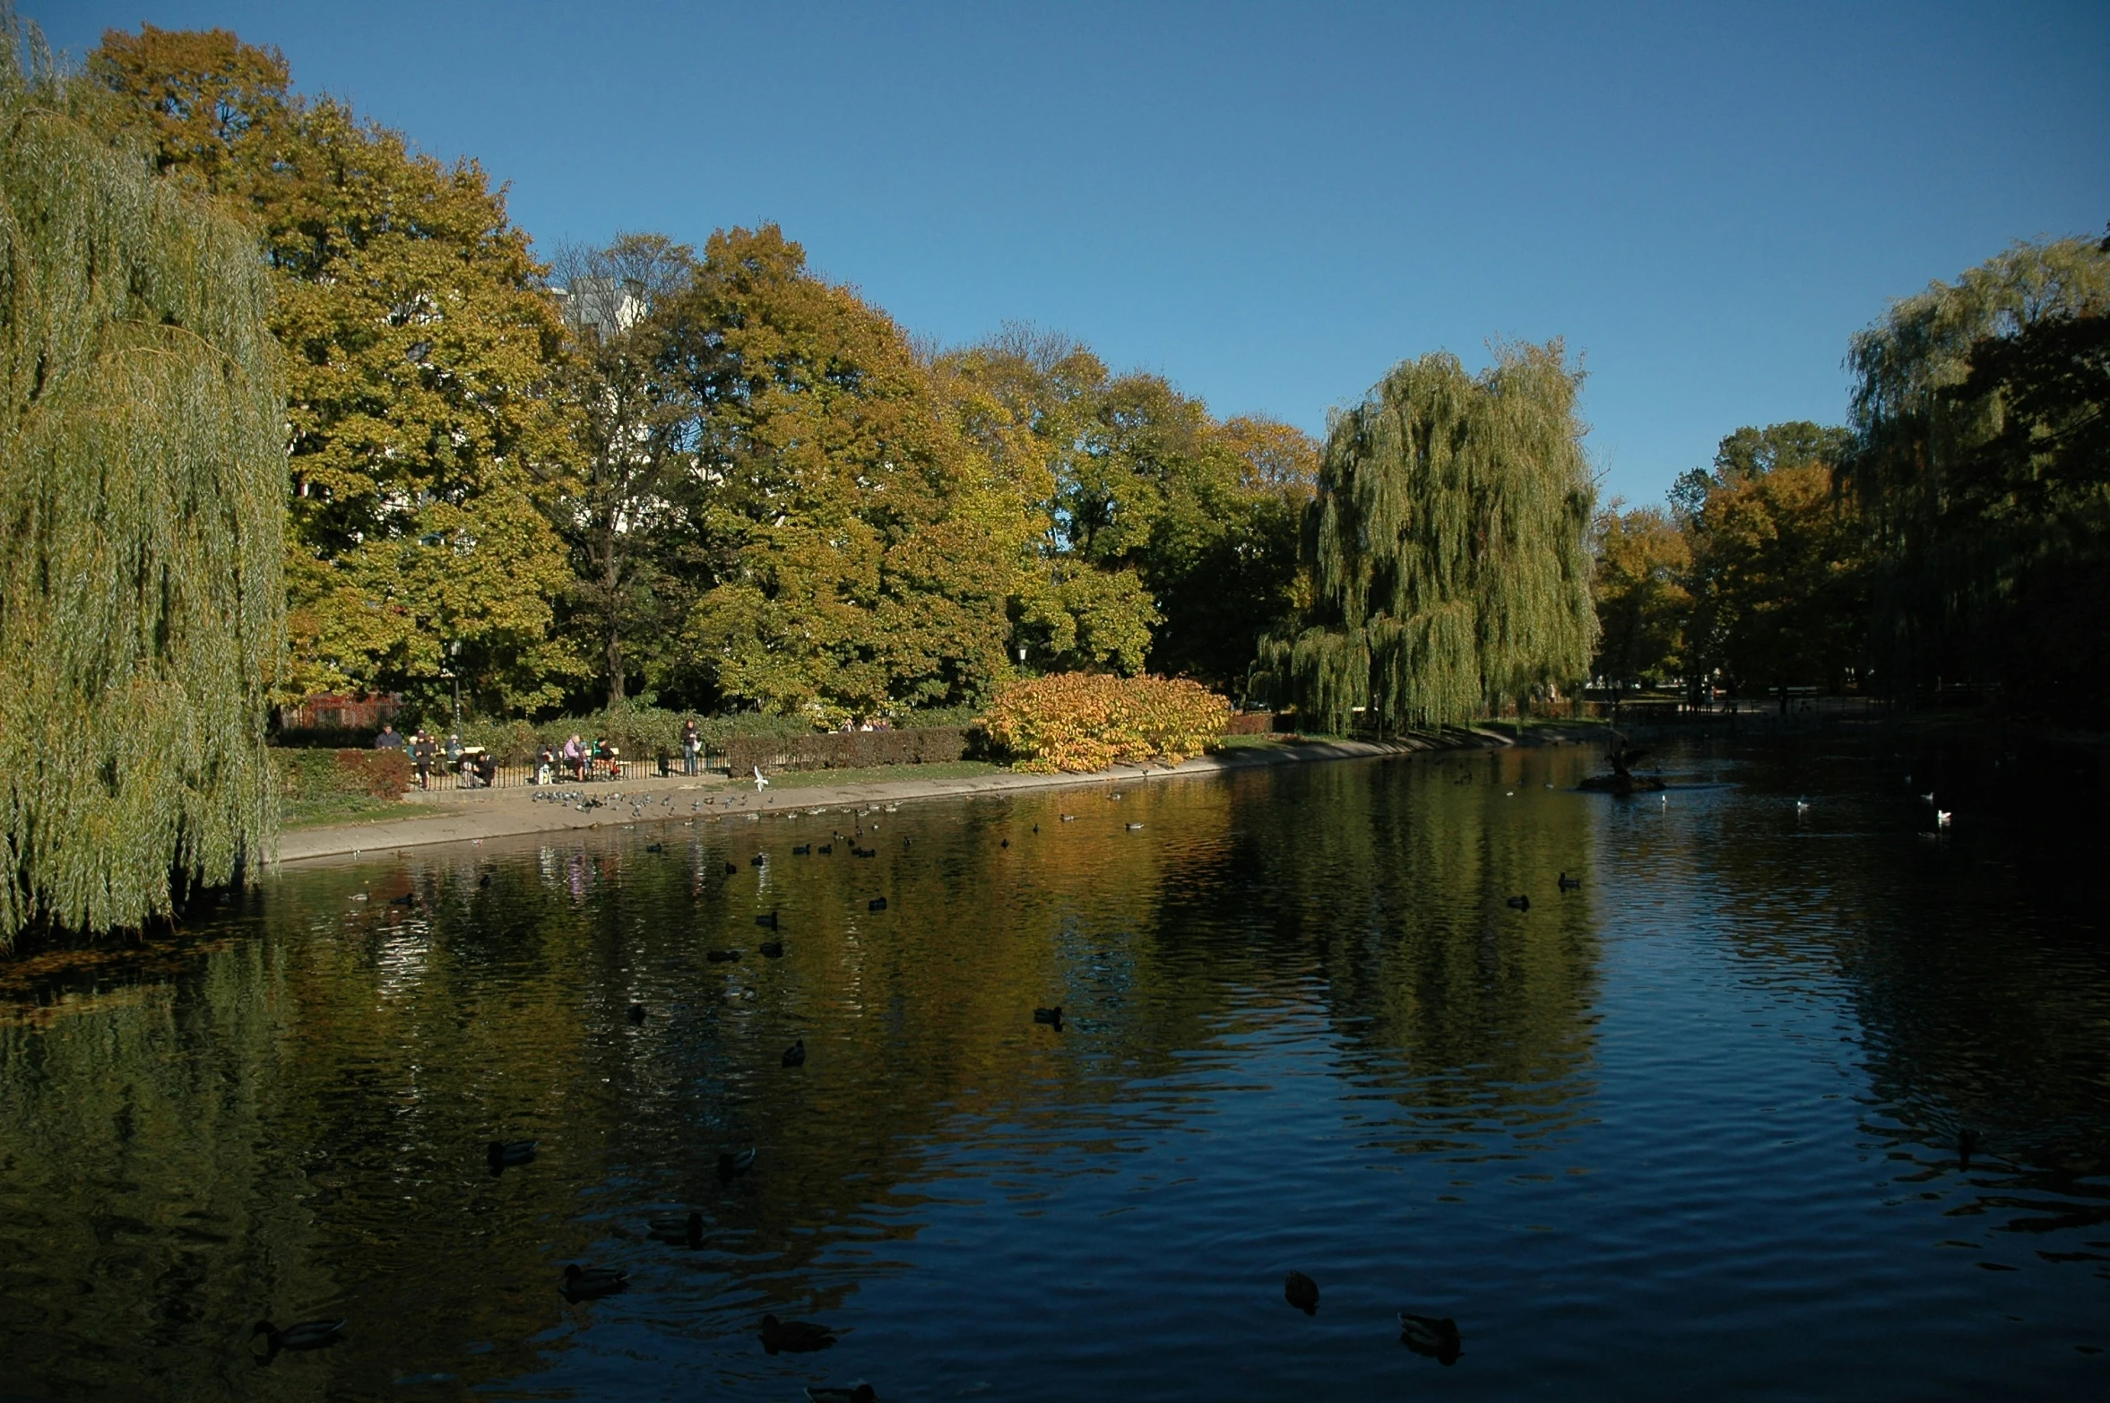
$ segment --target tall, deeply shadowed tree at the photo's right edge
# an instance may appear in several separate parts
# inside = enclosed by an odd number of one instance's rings
[[[1853,340],[1853,487],[1876,549],[1886,690],[2110,686],[2110,241],[2023,243]]]

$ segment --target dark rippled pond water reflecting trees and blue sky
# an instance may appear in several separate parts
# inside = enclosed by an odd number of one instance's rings
[[[38,956],[0,1392],[2110,1397],[2102,821],[1922,835],[1876,743],[1686,749],[1667,802],[1591,762],[411,850]],[[871,859],[791,850],[857,823]],[[690,1209],[701,1249],[648,1236]],[[768,1310],[840,1344],[772,1357]]]

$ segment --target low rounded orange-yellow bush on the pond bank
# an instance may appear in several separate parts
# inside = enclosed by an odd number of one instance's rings
[[[1179,764],[1224,734],[1230,703],[1198,681],[1057,673],[1019,681],[981,717],[1017,770],[1089,774],[1110,764]]]

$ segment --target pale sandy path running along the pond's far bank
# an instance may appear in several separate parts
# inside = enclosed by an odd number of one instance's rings
[[[1561,741],[1595,738],[1599,730],[1576,732],[1551,726],[1534,728],[1523,745],[1557,745]],[[905,804],[912,800],[952,800],[964,793],[1017,793],[1023,789],[1070,789],[1106,785],[1110,781],[1156,783],[1226,770],[1251,770],[1281,764],[1312,764],[1323,760],[1378,760],[1416,751],[1454,751],[1515,745],[1509,734],[1475,730],[1445,736],[1407,736],[1401,741],[1298,741],[1266,749],[1230,749],[1196,755],[1179,766],[1116,766],[1097,774],[975,774],[968,779],[897,779],[846,785],[795,785],[764,789],[730,779],[658,779],[639,776],[593,785],[551,785],[544,789],[447,789],[414,793],[409,808],[420,812],[369,823],[340,823],[293,829],[279,838],[281,863],[306,863],[321,857],[382,854],[397,848],[422,848],[441,842],[473,842],[483,838],[515,838],[521,833],[561,833],[570,829],[620,827],[625,823],[675,823],[711,814],[789,812],[793,808],[840,808],[848,804]],[[603,808],[580,812],[572,804],[536,802],[538,793],[587,793],[606,802]],[[612,795],[622,795],[614,800]],[[633,800],[641,808],[633,812]],[[669,802],[671,800],[671,802]],[[711,800],[705,806],[705,800]]]

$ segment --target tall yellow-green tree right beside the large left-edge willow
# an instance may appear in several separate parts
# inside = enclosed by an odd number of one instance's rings
[[[224,30],[108,32],[89,72],[122,139],[264,241],[293,426],[287,688],[555,700],[578,671],[544,519],[572,456],[563,327],[504,198],[475,162],[291,97],[285,59]]]

